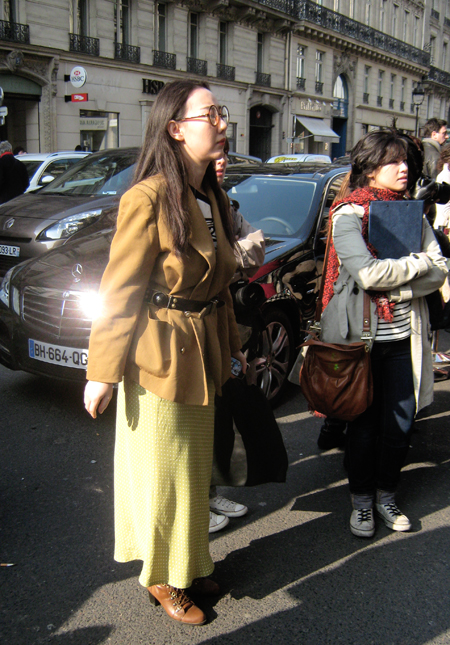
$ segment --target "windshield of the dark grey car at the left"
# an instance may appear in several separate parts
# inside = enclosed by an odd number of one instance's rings
[[[89,155],[40,194],[121,195],[131,184],[137,155],[136,150],[117,155]]]

